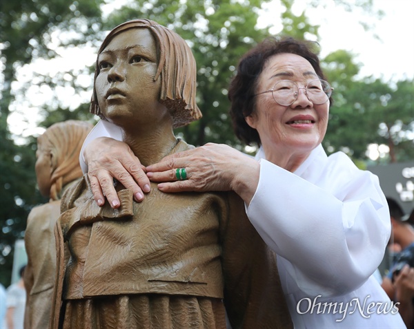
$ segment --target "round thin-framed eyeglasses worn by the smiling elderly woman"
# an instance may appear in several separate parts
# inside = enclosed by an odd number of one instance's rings
[[[333,91],[333,87],[329,85],[328,81],[316,79],[310,81],[304,88],[297,87],[297,84],[290,80],[277,81],[273,88],[266,90],[266,92],[272,93],[273,99],[277,104],[289,106],[297,99],[299,89],[305,89],[306,97],[315,105],[326,103]],[[255,94],[253,97],[266,92],[259,92],[259,94]]]

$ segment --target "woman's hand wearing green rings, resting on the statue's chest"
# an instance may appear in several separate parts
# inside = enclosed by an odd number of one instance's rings
[[[179,168],[186,169],[186,180],[177,179]],[[150,180],[160,182],[158,189],[163,192],[233,190],[249,204],[259,182],[260,165],[228,145],[208,143],[166,156],[146,171]]]

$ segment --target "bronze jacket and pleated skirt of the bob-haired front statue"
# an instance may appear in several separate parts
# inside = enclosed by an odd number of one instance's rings
[[[180,141],[171,153],[188,148]],[[52,326],[226,328],[227,310],[233,329],[290,328],[275,255],[235,193],[152,183],[137,203],[117,189],[116,210],[95,204],[87,178],[63,197]]]

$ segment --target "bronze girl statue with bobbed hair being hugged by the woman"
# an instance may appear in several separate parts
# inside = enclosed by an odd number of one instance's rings
[[[191,148],[172,128],[201,116],[195,85],[181,37],[128,21],[99,49],[91,109],[150,165]],[[291,327],[274,254],[236,193],[172,194],[152,183],[137,203],[117,183],[122,204],[112,209],[95,204],[90,183],[62,200],[52,328],[226,328],[226,312],[233,329]]]

